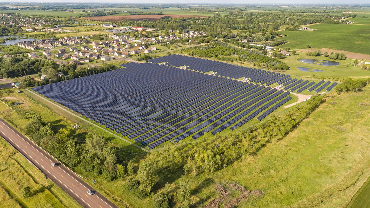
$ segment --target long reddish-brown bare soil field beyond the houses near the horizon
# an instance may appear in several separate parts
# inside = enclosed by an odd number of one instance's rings
[[[148,19],[149,21],[159,20],[162,17],[172,17],[172,18],[187,18],[187,17],[209,17],[209,16],[202,16],[202,15],[181,15],[181,14],[160,14],[160,15],[117,15],[117,16],[100,16],[100,17],[85,17],[85,20],[105,20],[105,21],[120,21],[120,20],[144,20]]]

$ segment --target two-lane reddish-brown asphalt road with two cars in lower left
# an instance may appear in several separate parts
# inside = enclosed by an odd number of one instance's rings
[[[54,181],[67,194],[74,198],[82,207],[85,208],[118,208],[107,198],[95,191],[90,185],[84,182],[74,172],[67,167],[55,161],[43,149],[38,147],[20,132],[11,127],[8,123],[0,118],[0,134],[10,142],[18,151],[22,152],[28,160],[32,161],[40,168],[50,180]],[[59,163],[53,167],[51,163]],[[95,192],[94,195],[87,194],[87,191]]]

